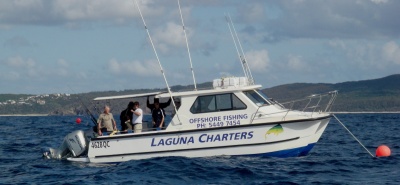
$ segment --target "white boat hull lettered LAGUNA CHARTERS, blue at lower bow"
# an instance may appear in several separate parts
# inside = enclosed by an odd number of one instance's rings
[[[166,156],[304,156],[321,137],[329,120],[330,116],[326,116],[233,127],[98,137],[89,142],[87,157],[68,160],[117,163]]]

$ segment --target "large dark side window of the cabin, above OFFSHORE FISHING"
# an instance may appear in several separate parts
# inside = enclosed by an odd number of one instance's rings
[[[205,113],[246,109],[247,106],[234,94],[199,96],[190,108],[190,112]]]

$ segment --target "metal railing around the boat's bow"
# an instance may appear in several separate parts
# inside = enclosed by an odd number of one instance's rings
[[[309,117],[312,117],[314,113],[319,112],[319,113],[326,113],[330,112],[333,106],[333,103],[336,100],[336,97],[338,95],[338,91],[330,91],[327,93],[322,93],[322,94],[313,94],[310,96],[307,96],[305,98],[297,99],[297,100],[292,100],[284,103],[279,103],[273,99],[269,99],[269,101],[274,104],[278,105],[281,107],[282,111],[278,112],[273,112],[269,114],[265,113],[260,113],[259,110],[262,106],[258,107],[255,113],[252,114],[252,119],[250,123],[253,123],[254,119],[258,116],[270,116],[273,114],[284,114],[282,116],[282,121],[286,120],[286,117],[288,116],[290,111],[298,111],[298,112],[303,112],[304,115],[307,115]]]

